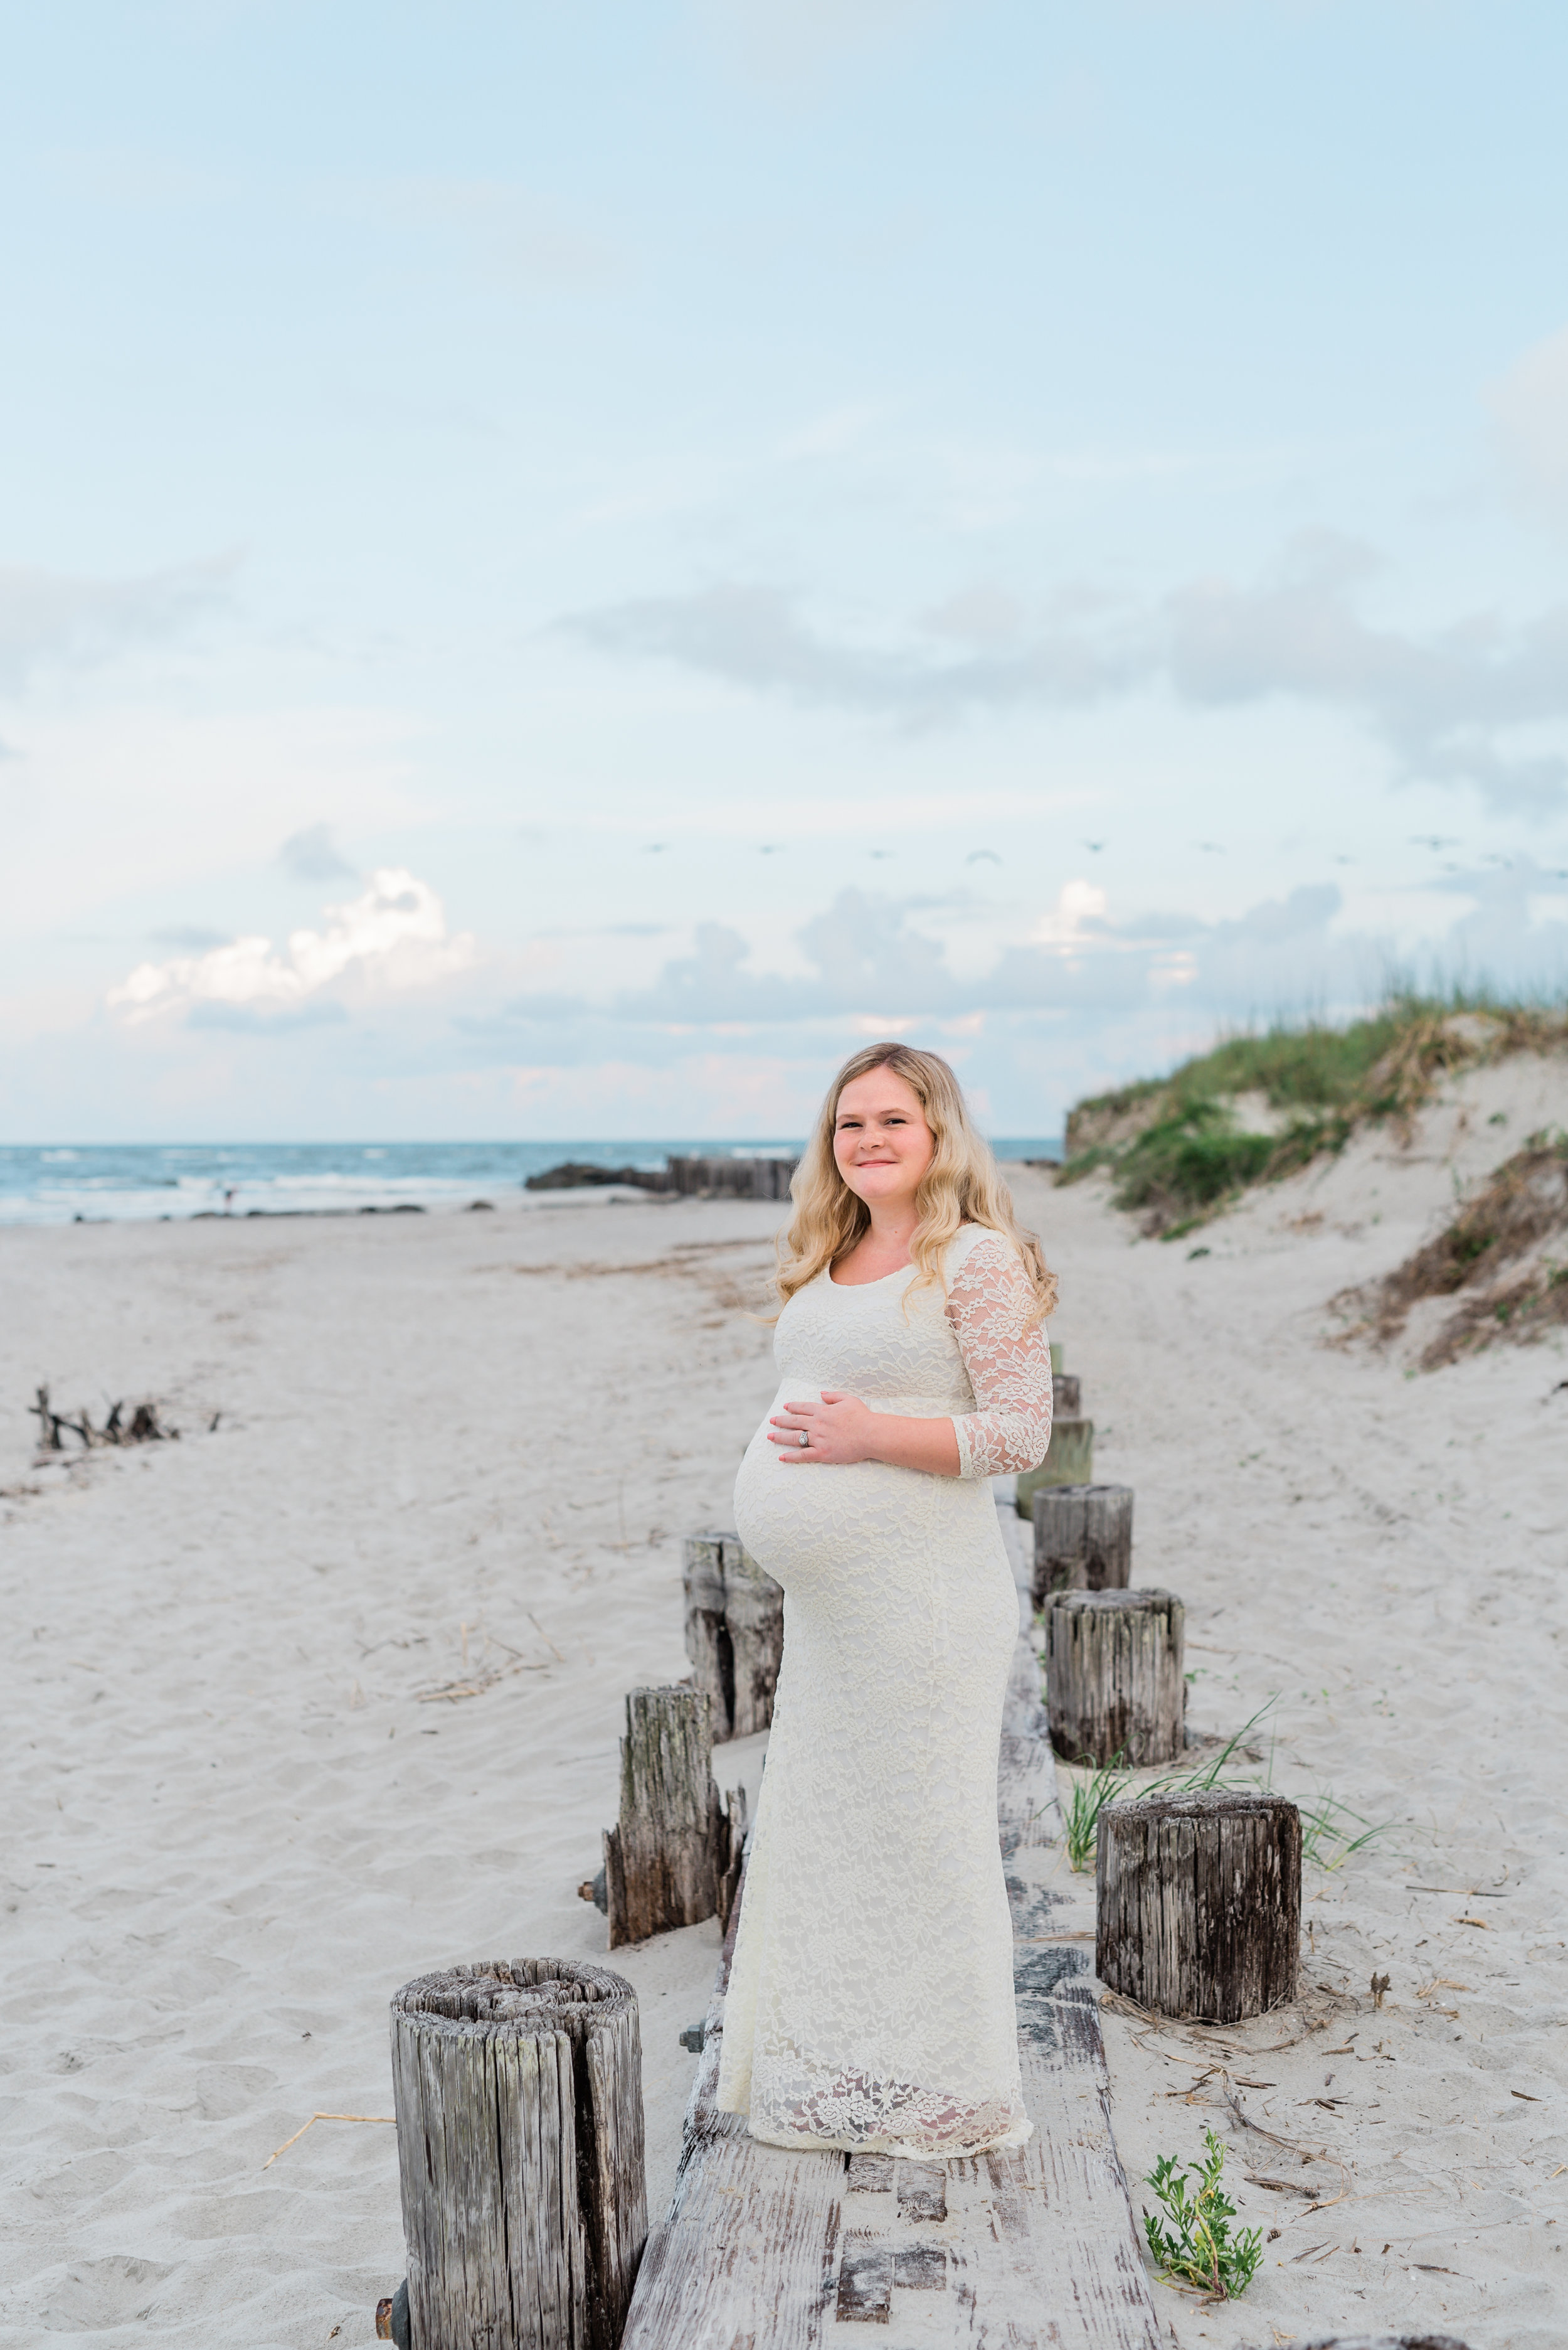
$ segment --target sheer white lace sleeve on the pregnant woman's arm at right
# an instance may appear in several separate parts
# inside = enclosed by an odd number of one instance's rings
[[[1052,1441],[1052,1349],[1030,1321],[1033,1292],[998,1234],[972,1248],[948,1288],[948,1321],[976,1412],[953,1417],[960,1476],[1038,1469]]]

